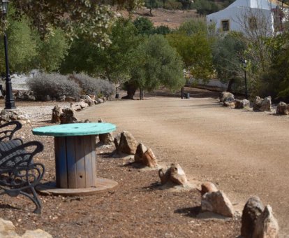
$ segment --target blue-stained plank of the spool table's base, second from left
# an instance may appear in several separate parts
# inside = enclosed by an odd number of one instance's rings
[[[66,159],[68,172],[68,188],[77,188],[76,183],[76,160],[75,160],[75,138],[66,137]]]

